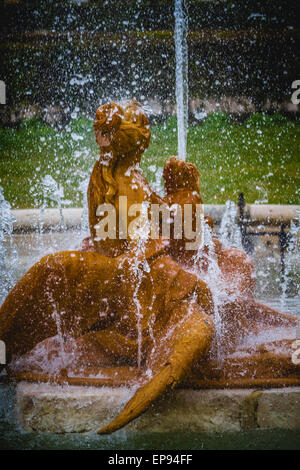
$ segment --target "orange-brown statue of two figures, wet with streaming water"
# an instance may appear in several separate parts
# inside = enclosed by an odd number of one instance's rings
[[[88,187],[91,237],[78,251],[42,258],[9,293],[0,309],[8,373],[37,382],[137,386],[100,434],[123,427],[179,385],[299,385],[299,366],[291,362],[297,319],[254,300],[247,255],[224,249],[209,218],[198,249],[186,249],[184,227],[175,235],[178,210],[184,218],[191,206],[196,227],[202,204],[196,167],[170,158],[162,199],[139,170],[150,142],[141,105],[100,106],[94,128],[100,157]],[[125,197],[134,211],[122,210]],[[149,236],[136,204],[146,213],[171,206],[169,240]],[[109,208],[114,236],[103,237]]]

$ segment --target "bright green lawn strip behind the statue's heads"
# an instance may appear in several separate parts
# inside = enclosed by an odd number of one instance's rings
[[[205,203],[299,204],[300,122],[280,115],[253,114],[236,124],[214,113],[188,133],[188,160],[199,169]],[[142,170],[150,182],[177,152],[176,119],[152,127],[152,142]],[[20,129],[0,130],[0,185],[14,208],[43,203],[41,180],[50,174],[64,188],[64,205],[80,206],[79,184],[88,178],[98,149],[92,121],[80,117],[61,132],[36,120]],[[55,202],[46,200],[48,206]]]

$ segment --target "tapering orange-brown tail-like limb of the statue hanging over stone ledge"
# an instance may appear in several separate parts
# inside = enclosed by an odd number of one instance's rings
[[[177,303],[178,305],[178,303]],[[156,350],[149,358],[152,379],[137,390],[122,413],[99,434],[110,434],[143,413],[166,390],[174,388],[189,372],[193,363],[210,347],[212,319],[198,305],[182,302],[175,306],[165,329],[156,336]]]

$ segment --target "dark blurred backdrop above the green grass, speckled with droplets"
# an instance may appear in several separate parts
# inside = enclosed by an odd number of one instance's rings
[[[256,109],[288,100],[300,71],[296,6],[188,1],[191,98],[246,97]],[[173,8],[173,0],[2,2],[6,110],[92,113],[129,96],[174,103]]]

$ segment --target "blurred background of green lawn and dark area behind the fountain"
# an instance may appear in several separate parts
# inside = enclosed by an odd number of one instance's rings
[[[186,1],[188,159],[207,203],[240,192],[253,203],[299,201],[297,3]],[[12,206],[41,205],[49,174],[64,206],[82,205],[98,152],[94,112],[130,97],[150,116],[142,166],[161,190],[177,153],[174,0],[5,0],[0,15],[0,185]]]

